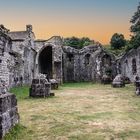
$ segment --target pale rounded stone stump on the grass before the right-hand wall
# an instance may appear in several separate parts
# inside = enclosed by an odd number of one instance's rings
[[[113,87],[124,87],[125,81],[124,77],[121,74],[118,74],[112,82]]]

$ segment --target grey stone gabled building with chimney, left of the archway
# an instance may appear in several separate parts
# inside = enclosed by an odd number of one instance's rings
[[[9,63],[11,65],[11,86],[31,84],[34,77],[36,55],[32,26],[27,25],[26,31],[10,32],[8,35],[12,39]]]

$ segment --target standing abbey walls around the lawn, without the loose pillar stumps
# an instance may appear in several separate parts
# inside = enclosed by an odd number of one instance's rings
[[[10,32],[0,26],[0,79],[8,87],[31,84],[39,73],[49,79],[63,82],[100,82],[111,72],[112,79],[119,73],[131,82],[140,76],[140,48],[120,58],[107,53],[101,44],[81,50],[63,45],[63,39],[53,36],[49,40],[36,40],[32,25],[25,31]]]

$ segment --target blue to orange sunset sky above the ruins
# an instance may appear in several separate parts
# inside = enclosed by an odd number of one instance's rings
[[[36,39],[89,37],[109,44],[114,33],[130,37],[139,0],[0,0],[0,24],[10,31],[33,25]]]

